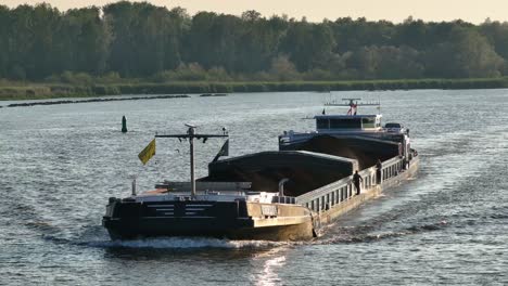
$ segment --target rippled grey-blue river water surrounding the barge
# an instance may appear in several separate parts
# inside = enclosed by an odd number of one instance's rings
[[[277,150],[282,130],[341,98],[382,102],[410,128],[418,178],[306,243],[157,238],[111,242],[110,196],[188,180],[188,143],[155,132],[230,133],[230,155]],[[11,102],[0,102],[7,105]],[[376,113],[363,107],[359,113]],[[345,113],[327,108],[327,113]],[[122,116],[129,132],[120,132]],[[0,108],[0,284],[506,285],[508,90],[254,93]],[[196,144],[198,174],[223,140]]]

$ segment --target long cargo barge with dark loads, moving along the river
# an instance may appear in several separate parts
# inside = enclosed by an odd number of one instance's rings
[[[382,126],[380,114],[358,115],[359,99],[346,115],[316,115],[316,129],[284,131],[279,151],[218,159],[208,174],[194,178],[194,142],[223,134],[158,135],[190,143],[189,182],[163,181],[128,197],[111,197],[102,224],[112,239],[151,236],[211,236],[229,239],[305,240],[319,236],[332,222],[383,190],[414,177],[418,153],[409,129]],[[356,100],[356,103],[354,102]],[[225,146],[228,141],[225,143]],[[353,174],[363,178],[360,192]]]

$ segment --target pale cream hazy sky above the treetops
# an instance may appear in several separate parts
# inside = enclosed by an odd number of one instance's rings
[[[0,3],[16,6],[42,1],[0,0]],[[87,5],[104,5],[114,0],[46,0],[61,10]],[[167,8],[182,6],[189,14],[214,11],[240,15],[246,10],[256,10],[265,16],[287,14],[290,17],[306,16],[313,22],[351,16],[368,20],[402,22],[409,15],[424,21],[452,21],[461,18],[482,23],[485,18],[508,21],[508,0],[148,0]]]

